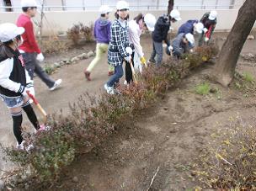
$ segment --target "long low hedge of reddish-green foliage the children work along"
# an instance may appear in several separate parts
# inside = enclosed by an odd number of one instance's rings
[[[96,98],[85,93],[70,105],[70,115],[50,117],[51,130],[26,136],[26,142],[33,143],[35,149],[29,153],[13,148],[4,151],[10,161],[19,165],[18,174],[24,181],[30,183],[32,179],[33,188],[49,188],[77,155],[91,151],[114,130],[124,127],[127,120],[134,121],[141,109],[162,98],[190,68],[188,61],[170,59],[161,67],[145,68],[138,83],[120,88],[121,95],[104,93]],[[17,178],[8,181],[21,189],[24,186]]]

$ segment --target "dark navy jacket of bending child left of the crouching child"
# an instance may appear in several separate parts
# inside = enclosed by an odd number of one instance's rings
[[[155,30],[152,32],[152,40],[155,42],[163,42],[169,45],[168,42],[168,31],[170,29],[171,23],[167,15],[163,14],[157,19],[155,24]]]

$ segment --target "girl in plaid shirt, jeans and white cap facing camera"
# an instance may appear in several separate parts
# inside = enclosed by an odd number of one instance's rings
[[[119,83],[120,78],[124,75],[123,61],[131,61],[131,47],[128,40],[127,17],[129,4],[125,1],[119,1],[116,4],[115,21],[111,26],[111,40],[109,43],[108,61],[115,66],[115,74],[110,77],[109,82],[104,84],[104,89],[109,94],[115,94],[115,85]]]

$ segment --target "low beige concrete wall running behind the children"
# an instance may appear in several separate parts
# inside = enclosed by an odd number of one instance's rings
[[[200,19],[201,16],[207,10],[181,10],[182,20],[173,24],[174,29],[178,29],[188,19]],[[217,10],[218,23],[216,29],[218,30],[230,30],[235,20],[237,19],[237,9]],[[148,13],[148,11],[133,11],[130,12],[131,18],[134,18],[137,13]],[[156,17],[163,14],[163,11],[150,11]],[[19,13],[0,13],[0,23],[12,22],[15,23]],[[46,12],[44,19],[44,34],[58,34],[59,32],[65,32],[72,27],[72,24],[82,22],[83,24],[92,24],[95,19],[99,17],[99,13],[95,11],[65,11],[65,12]],[[114,19],[114,13],[111,14],[111,18]],[[35,21],[39,20],[39,15],[35,18]]]

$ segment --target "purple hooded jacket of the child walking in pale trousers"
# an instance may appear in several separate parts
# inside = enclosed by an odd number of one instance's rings
[[[111,22],[107,19],[99,18],[94,24],[94,37],[97,43],[109,44]]]

